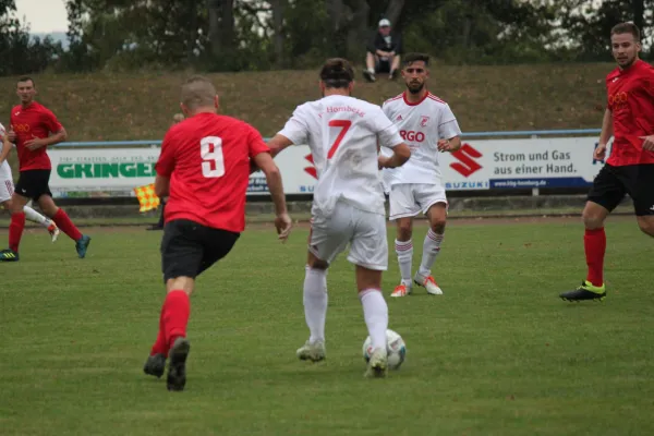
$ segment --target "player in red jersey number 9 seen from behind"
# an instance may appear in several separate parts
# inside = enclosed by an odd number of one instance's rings
[[[218,96],[206,78],[189,80],[181,101],[186,119],[164,137],[156,166],[155,192],[168,196],[161,241],[168,294],[143,368],[160,377],[169,356],[169,390],[183,390],[186,384],[189,296],[195,277],[225,257],[245,228],[251,160],[266,174],[279,239],[286,241],[291,230],[281,175],[262,135],[243,121],[216,113]]]

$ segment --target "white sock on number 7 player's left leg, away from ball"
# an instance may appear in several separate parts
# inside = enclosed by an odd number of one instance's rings
[[[304,318],[311,331],[308,341],[325,341],[327,317],[327,270],[306,266],[304,276]]]

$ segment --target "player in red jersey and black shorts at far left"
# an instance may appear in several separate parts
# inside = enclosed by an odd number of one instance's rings
[[[52,165],[46,149],[49,145],[65,141],[65,129],[55,113],[34,100],[36,87],[31,77],[19,78],[16,93],[21,105],[11,110],[11,130],[8,132],[8,138],[16,145],[20,177],[9,209],[9,249],[0,252],[0,261],[20,259],[19,245],[25,228],[23,207],[31,199],[37,202],[44,214],[75,241],[77,255],[83,258],[86,256],[90,238],[83,235],[66,213],[57,207],[48,186]]]

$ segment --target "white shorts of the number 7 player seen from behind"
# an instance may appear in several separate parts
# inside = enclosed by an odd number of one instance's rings
[[[388,240],[384,215],[338,202],[329,216],[313,214],[308,251],[320,261],[334,262],[350,244],[348,261],[368,269],[388,268]]]

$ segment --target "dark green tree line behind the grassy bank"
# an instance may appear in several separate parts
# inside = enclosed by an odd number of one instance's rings
[[[264,71],[363,61],[380,17],[404,48],[453,64],[609,60],[610,27],[651,47],[654,0],[66,0],[69,47],[33,38],[0,0],[0,74]]]

